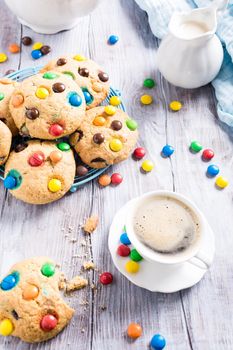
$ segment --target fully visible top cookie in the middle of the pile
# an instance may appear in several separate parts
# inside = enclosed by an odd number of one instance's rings
[[[77,84],[54,72],[25,79],[13,92],[9,106],[21,135],[45,140],[74,132],[86,109]]]

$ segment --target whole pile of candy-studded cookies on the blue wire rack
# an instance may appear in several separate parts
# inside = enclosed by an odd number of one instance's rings
[[[0,80],[0,165],[12,195],[55,201],[72,186],[76,159],[104,168],[129,156],[137,123],[115,106],[99,106],[109,89],[108,74],[82,55],[51,61],[21,83]]]

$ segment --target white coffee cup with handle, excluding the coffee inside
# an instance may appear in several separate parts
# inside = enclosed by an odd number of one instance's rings
[[[181,252],[177,252],[174,254],[156,252],[153,249],[146,246],[143,242],[141,242],[137,234],[135,233],[134,218],[136,212],[140,208],[142,208],[148,200],[151,201],[151,199],[161,196],[179,200],[185,206],[190,208],[191,211],[193,211],[198,220],[200,234],[198,235],[197,239],[194,240],[194,243],[192,243],[187,249],[184,249]],[[208,256],[206,256],[206,254],[202,251],[202,241],[204,239],[204,235],[208,234],[207,230],[205,230],[204,216],[192,201],[176,192],[154,191],[148,192],[138,197],[135,201],[132,202],[132,205],[129,207],[129,211],[126,216],[126,232],[132,245],[136,248],[136,250],[144,259],[150,262],[156,262],[167,265],[189,262],[202,269],[208,269],[211,264],[211,259],[209,259]]]

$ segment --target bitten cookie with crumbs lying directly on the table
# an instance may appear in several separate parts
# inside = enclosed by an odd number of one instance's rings
[[[35,343],[61,332],[74,314],[60,295],[62,278],[47,257],[15,264],[0,281],[0,335]]]

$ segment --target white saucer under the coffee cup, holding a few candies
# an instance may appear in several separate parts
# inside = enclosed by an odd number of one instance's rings
[[[127,202],[116,213],[110,227],[108,246],[116,268],[132,283],[152,292],[172,293],[198,283],[207,270],[201,269],[189,262],[175,266],[166,266],[142,260],[139,262],[140,270],[137,273],[130,274],[125,270],[125,264],[130,259],[129,257],[117,255],[116,251],[117,247],[121,244],[120,235],[123,233],[128,207],[134,200]],[[212,261],[215,251],[214,234],[207,220],[205,220],[205,229],[208,230],[208,235],[204,235],[207,238],[203,239],[201,250]]]

